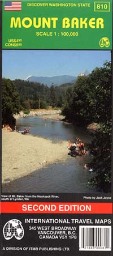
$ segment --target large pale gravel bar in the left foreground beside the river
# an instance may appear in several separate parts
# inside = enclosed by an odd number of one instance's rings
[[[66,141],[53,143],[37,136],[2,129],[2,183],[67,159]]]

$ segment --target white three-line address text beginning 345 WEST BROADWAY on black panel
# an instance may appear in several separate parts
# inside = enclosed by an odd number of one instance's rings
[[[77,227],[29,226],[29,231],[36,231],[39,239],[77,239]]]

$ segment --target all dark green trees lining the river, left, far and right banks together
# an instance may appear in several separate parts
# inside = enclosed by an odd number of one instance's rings
[[[111,62],[78,76],[75,85],[47,87],[24,80],[2,80],[2,124],[14,123],[14,113],[23,109],[62,108],[66,120],[78,126],[98,123],[90,150],[95,175],[88,182],[100,191],[111,190]]]

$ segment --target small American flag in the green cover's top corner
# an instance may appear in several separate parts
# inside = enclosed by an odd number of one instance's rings
[[[5,1],[5,11],[21,11],[21,1]]]

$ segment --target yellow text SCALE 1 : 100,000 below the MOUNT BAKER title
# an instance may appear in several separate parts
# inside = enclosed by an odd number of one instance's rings
[[[43,32],[43,31],[37,31],[36,36],[79,36],[78,32]]]

